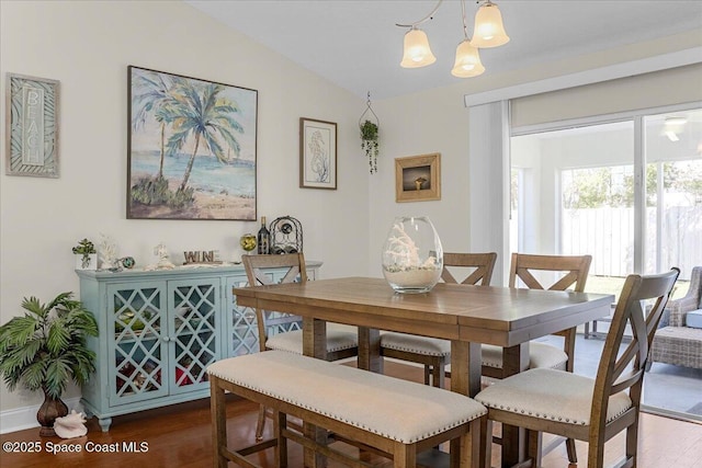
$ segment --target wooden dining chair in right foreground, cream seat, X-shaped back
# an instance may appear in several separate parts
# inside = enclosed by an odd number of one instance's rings
[[[561,369],[529,369],[475,397],[488,408],[488,434],[494,421],[526,429],[529,459],[520,466],[537,466],[542,433],[547,432],[587,442],[588,468],[600,468],[604,443],[624,430],[625,460],[618,466],[636,466],[644,369],[679,273],[673,267],[664,274],[626,277],[593,379]],[[626,327],[632,339],[620,351]],[[485,448],[482,464],[490,459],[490,444]]]

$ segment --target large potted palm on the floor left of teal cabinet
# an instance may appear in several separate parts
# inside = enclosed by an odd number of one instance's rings
[[[54,421],[68,414],[60,397],[69,380],[84,385],[95,372],[95,353],[86,338],[98,336],[98,322],[71,297],[61,293],[46,305],[36,297],[24,298],[24,316],[0,327],[0,375],[8,389],[21,385],[44,391],[36,414],[42,436],[55,435]]]

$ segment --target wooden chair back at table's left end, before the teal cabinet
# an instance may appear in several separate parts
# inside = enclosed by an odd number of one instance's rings
[[[280,255],[241,255],[241,262],[250,286],[293,283],[298,278],[303,283],[307,282],[305,256],[302,252]],[[273,271],[282,274],[281,279],[273,281]],[[292,313],[256,308],[256,320],[261,351],[265,351],[265,341],[271,331],[285,332],[302,329],[302,317]]]

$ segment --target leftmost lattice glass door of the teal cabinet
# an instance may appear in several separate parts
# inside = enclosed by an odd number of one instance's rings
[[[110,404],[168,395],[163,282],[107,286]]]

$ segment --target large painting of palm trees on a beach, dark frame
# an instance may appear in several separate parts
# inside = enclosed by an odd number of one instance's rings
[[[127,218],[256,220],[258,91],[127,75]]]

